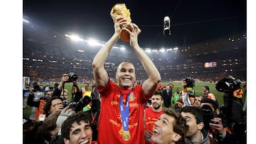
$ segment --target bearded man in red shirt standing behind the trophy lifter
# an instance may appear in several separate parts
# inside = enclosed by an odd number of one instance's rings
[[[162,105],[164,103],[163,96],[160,90],[156,90],[151,97],[152,106],[144,109],[144,136],[146,144],[154,144],[151,142],[151,135],[154,133],[154,123],[163,113]]]

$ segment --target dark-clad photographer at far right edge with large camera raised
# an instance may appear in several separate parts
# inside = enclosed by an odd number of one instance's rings
[[[231,75],[220,79],[216,84],[218,92],[224,92],[223,114],[227,118],[228,127],[235,135],[236,143],[246,143],[246,121],[245,113],[242,111],[242,103],[240,101],[240,79],[235,79]]]

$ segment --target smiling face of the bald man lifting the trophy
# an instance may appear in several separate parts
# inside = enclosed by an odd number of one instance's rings
[[[130,62],[122,62],[117,68],[116,79],[120,87],[124,89],[132,87],[135,82],[134,65]]]

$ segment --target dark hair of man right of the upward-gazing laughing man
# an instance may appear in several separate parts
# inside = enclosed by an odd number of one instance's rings
[[[181,112],[193,114],[197,124],[203,122],[203,111],[197,106],[184,106],[181,108]]]

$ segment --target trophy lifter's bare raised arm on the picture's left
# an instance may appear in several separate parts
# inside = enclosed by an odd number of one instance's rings
[[[108,80],[109,76],[107,71],[104,68],[104,62],[107,60],[108,55],[110,55],[110,50],[114,46],[114,43],[117,43],[119,40],[119,35],[121,31],[121,26],[126,23],[124,18],[118,18],[114,23],[114,34],[110,38],[110,40],[102,46],[97,55],[95,56],[94,60],[92,61],[92,70],[95,79],[96,87],[104,87]]]

